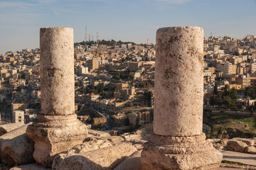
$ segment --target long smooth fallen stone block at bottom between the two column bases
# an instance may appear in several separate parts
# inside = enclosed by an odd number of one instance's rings
[[[112,147],[76,154],[64,159],[62,164],[55,167],[57,170],[110,170],[127,159],[137,149],[129,143],[121,143]]]

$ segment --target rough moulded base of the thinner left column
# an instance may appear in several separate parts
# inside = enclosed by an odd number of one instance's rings
[[[26,134],[35,142],[33,158],[42,166],[51,167],[55,154],[82,143],[86,125],[76,115],[38,115],[38,122],[29,125]]]

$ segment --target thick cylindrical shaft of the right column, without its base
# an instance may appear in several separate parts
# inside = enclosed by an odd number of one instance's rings
[[[200,135],[203,129],[203,29],[156,32],[154,133]]]

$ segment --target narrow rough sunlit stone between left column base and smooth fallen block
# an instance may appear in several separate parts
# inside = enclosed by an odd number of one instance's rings
[[[112,144],[108,140],[90,140],[88,142],[83,142],[81,145],[76,145],[72,149],[69,149],[68,152],[60,153],[53,159],[53,169],[58,169],[58,166],[61,166],[65,159],[72,157],[77,154],[82,154],[89,152],[95,149],[100,149],[103,147],[111,147]]]

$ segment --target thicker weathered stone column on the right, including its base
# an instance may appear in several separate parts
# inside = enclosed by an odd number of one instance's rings
[[[156,32],[154,134],[144,144],[144,169],[216,169],[222,154],[203,130],[203,29]]]

